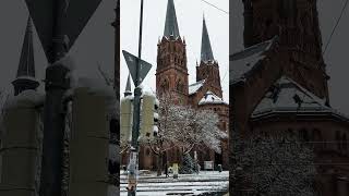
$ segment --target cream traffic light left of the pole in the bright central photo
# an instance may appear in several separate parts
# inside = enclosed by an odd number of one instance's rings
[[[121,99],[120,109],[120,139],[131,140],[133,119],[133,97],[128,96]]]

